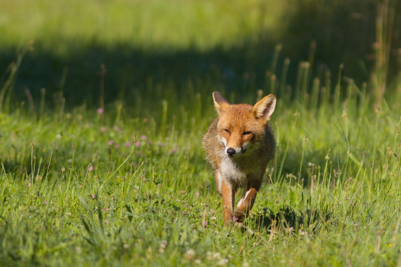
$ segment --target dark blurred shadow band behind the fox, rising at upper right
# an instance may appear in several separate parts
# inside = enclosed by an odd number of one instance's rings
[[[171,94],[184,100],[191,93],[209,94],[215,90],[225,91],[228,96],[232,92],[255,96],[262,89],[279,97],[288,93],[294,97],[294,89],[279,91],[279,88],[280,84],[295,87],[300,61],[311,64],[309,82],[315,77],[325,81],[330,71],[331,84],[335,84],[338,66],[344,63],[342,74],[359,84],[369,79],[368,70],[373,65],[368,55],[374,52],[371,45],[375,42],[375,7],[376,2],[362,0],[294,1],[294,11],[286,15],[287,30],[278,39],[283,46],[277,64],[272,64],[277,41],[268,32],[231,48],[216,47],[205,52],[194,48],[145,52],[131,44],[105,47],[96,41],[80,45],[79,40],[70,40],[60,41],[68,51],[60,56],[37,40],[35,51],[28,53],[22,62],[14,103],[26,100],[24,88],[28,87],[35,102],[40,99],[41,88],[46,88],[49,106],[54,103],[54,94],[63,90],[69,107],[82,103],[98,107],[101,64],[107,70],[106,103],[121,100],[130,106],[169,99]],[[394,28],[399,25],[398,20],[395,23]],[[393,47],[399,42],[396,39]],[[291,62],[283,81],[286,57]],[[0,85],[7,79],[8,66],[15,58],[16,49],[0,51]],[[396,60],[391,57],[390,61]],[[274,89],[270,87],[272,74],[277,76]]]

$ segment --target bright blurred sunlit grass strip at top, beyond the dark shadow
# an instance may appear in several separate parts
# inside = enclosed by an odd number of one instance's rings
[[[202,51],[258,38],[264,30],[277,35],[287,6],[260,0],[1,1],[0,47],[22,46],[34,38],[63,56],[94,43]]]

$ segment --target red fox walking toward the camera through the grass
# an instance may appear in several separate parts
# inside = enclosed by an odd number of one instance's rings
[[[224,223],[230,226],[233,221],[243,222],[252,209],[266,167],[275,155],[269,120],[276,96],[268,95],[255,106],[231,105],[219,92],[213,93],[213,100],[218,117],[205,134],[203,146],[223,197]],[[238,187],[245,189],[234,213]]]

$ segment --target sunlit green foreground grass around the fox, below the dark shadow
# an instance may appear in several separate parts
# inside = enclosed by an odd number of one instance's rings
[[[133,118],[118,103],[104,124],[85,106],[2,113],[1,263],[396,265],[400,98],[377,113],[357,90],[337,106],[279,99],[277,158],[248,232],[223,226],[204,159],[209,94],[187,99],[202,107],[168,104],[161,119]]]

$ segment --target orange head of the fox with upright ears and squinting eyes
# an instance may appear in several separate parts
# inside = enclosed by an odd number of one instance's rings
[[[219,92],[213,93],[213,100],[219,114],[218,139],[224,145],[225,153],[237,158],[258,148],[276,107],[276,96],[265,96],[254,106],[231,105]]]

